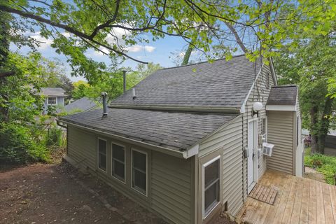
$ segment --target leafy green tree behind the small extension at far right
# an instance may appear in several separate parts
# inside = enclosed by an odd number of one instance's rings
[[[311,152],[324,153],[334,100],[327,81],[336,77],[336,36],[315,36],[300,41],[295,50],[275,59],[282,84],[300,85],[302,124],[311,133]]]

